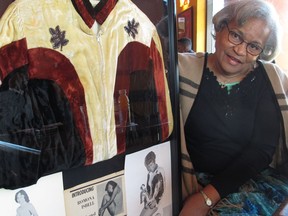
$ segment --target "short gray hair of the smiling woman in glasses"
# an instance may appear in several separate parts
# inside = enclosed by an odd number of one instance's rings
[[[242,26],[253,18],[264,20],[270,29],[270,35],[259,59],[271,61],[279,54],[282,29],[278,14],[270,3],[264,0],[238,0],[216,13],[212,22],[214,30],[219,32],[232,20]]]

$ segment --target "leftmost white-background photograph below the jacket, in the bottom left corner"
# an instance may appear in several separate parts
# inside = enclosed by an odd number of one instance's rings
[[[0,194],[3,215],[66,215],[62,173],[42,177],[32,186],[14,190],[0,189]]]

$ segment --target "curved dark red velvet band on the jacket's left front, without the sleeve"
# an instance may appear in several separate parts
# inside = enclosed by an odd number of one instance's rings
[[[86,149],[86,164],[93,160],[93,144],[88,125],[85,92],[77,72],[69,59],[61,53],[45,48],[29,50],[29,76],[54,80],[64,91],[71,104],[76,127]]]

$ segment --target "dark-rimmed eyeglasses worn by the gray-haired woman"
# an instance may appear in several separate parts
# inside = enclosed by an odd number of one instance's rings
[[[263,52],[263,48],[260,47],[258,44],[246,42],[240,34],[238,34],[235,31],[230,30],[228,25],[226,25],[226,26],[227,26],[227,29],[228,29],[228,32],[229,32],[228,40],[231,43],[233,43],[234,45],[240,45],[243,42],[246,43],[247,44],[246,51],[248,53],[250,53],[251,55],[253,55],[253,56],[257,56],[257,55],[259,55],[260,53]]]

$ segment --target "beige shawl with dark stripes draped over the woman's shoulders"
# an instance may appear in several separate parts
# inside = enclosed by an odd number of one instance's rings
[[[197,179],[186,148],[184,125],[198,93],[205,53],[178,54],[180,81],[180,137],[182,165],[182,198],[198,191]],[[262,62],[282,113],[282,130],[272,167],[288,175],[288,76],[277,65]]]

